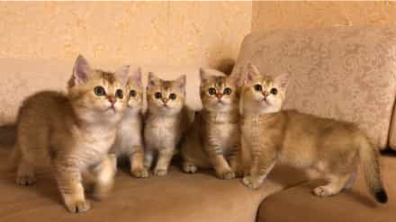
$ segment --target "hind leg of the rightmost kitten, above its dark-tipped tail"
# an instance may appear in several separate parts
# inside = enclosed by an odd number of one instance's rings
[[[316,196],[327,197],[338,194],[344,187],[348,179],[349,174],[346,175],[330,175],[329,183],[324,186],[318,186],[314,188],[313,192]]]

